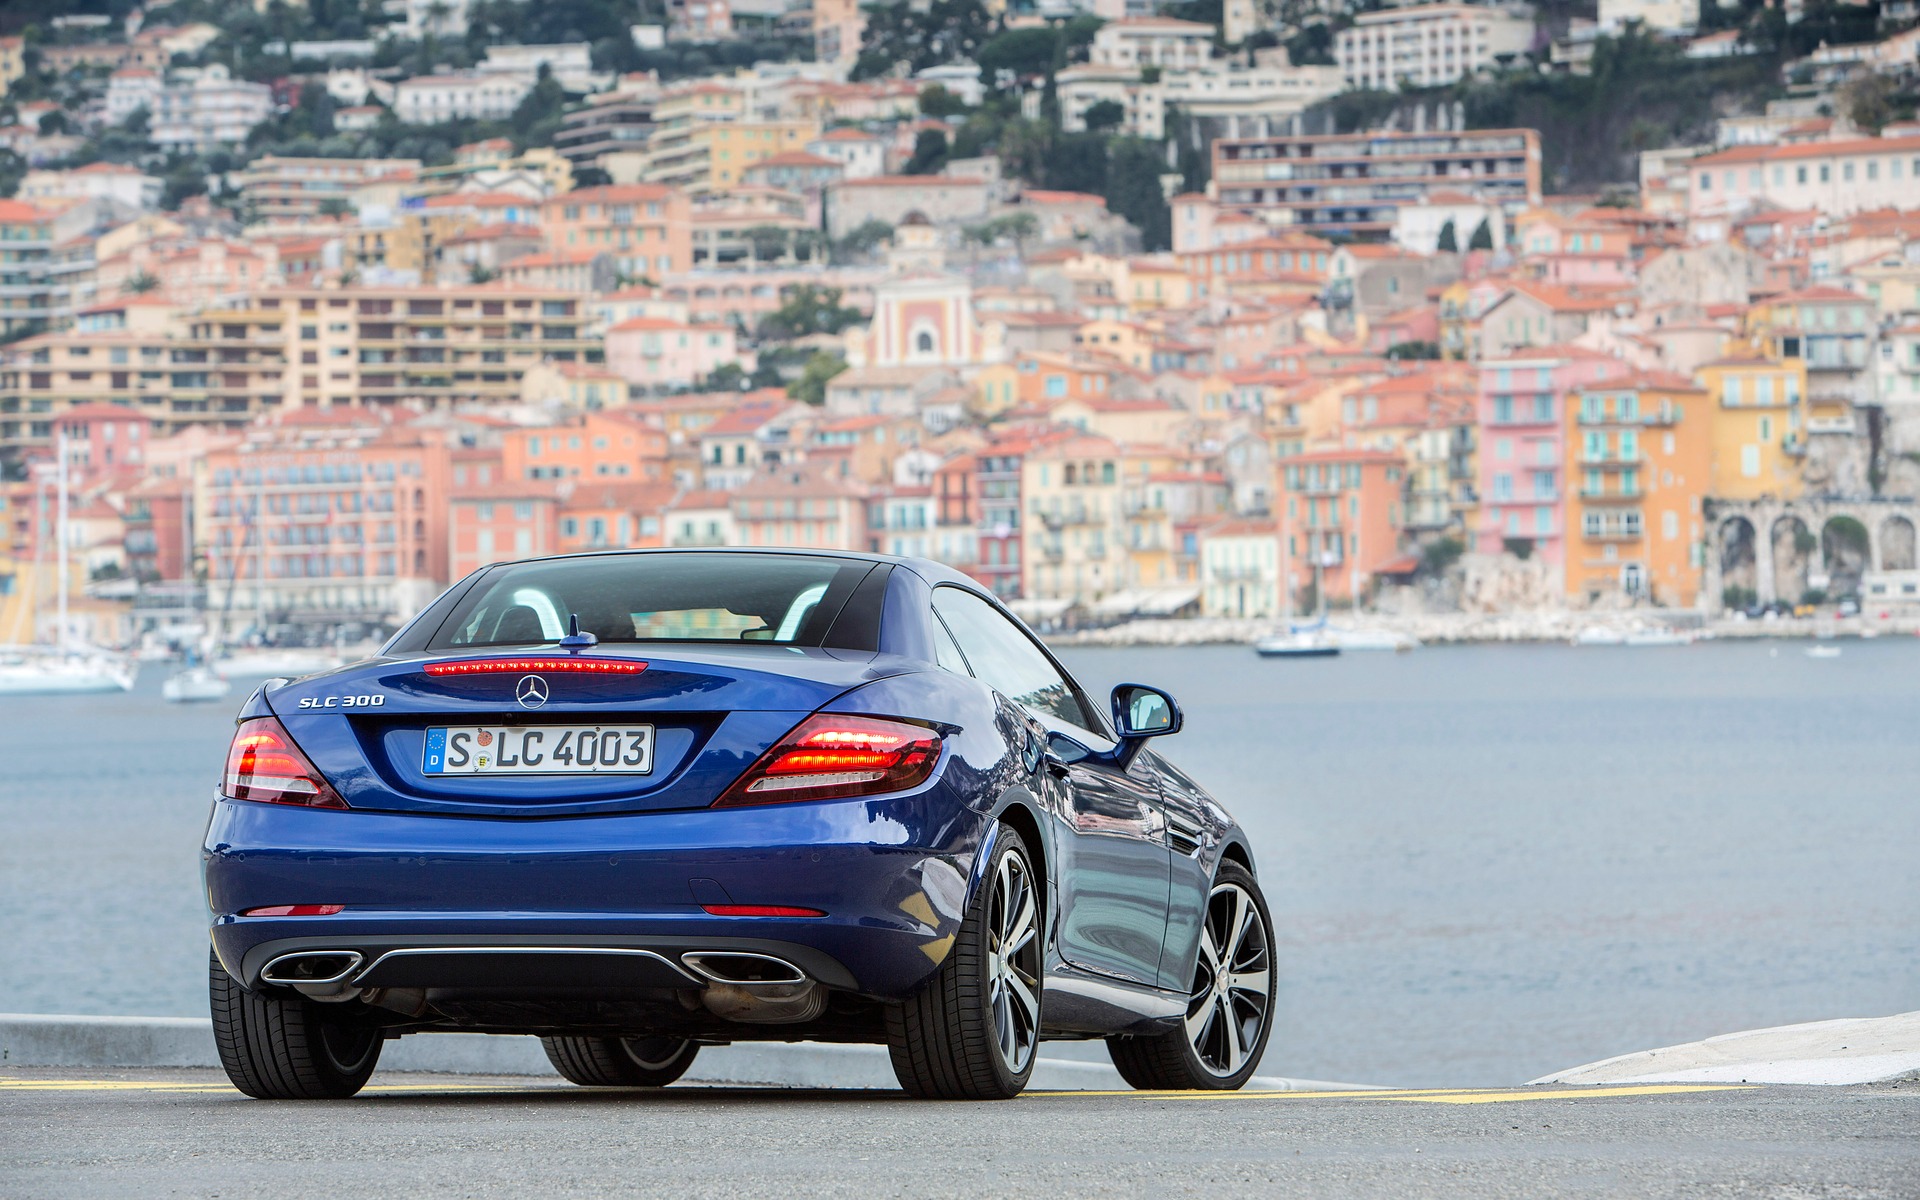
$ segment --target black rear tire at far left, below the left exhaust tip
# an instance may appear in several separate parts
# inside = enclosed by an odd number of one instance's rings
[[[255,1100],[346,1100],[380,1062],[380,1027],[346,1004],[246,991],[207,950],[213,1044],[234,1087]]]

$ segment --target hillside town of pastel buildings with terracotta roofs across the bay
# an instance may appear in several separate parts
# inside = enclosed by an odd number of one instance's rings
[[[1788,6],[1753,111],[1601,186],[1448,88],[1759,17],[23,8],[0,643],[611,547],[929,557],[1046,628],[1920,605],[1912,4]]]

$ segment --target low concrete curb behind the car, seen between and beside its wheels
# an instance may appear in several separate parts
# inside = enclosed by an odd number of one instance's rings
[[[0,1014],[0,1068],[219,1068],[205,1018],[83,1018]],[[553,1075],[532,1037],[430,1033],[403,1037],[380,1054],[382,1071],[440,1075]],[[883,1046],[735,1043],[701,1050],[689,1083],[849,1087],[895,1091]],[[1041,1058],[1035,1091],[1127,1091],[1104,1062]],[[1256,1091],[1369,1091],[1359,1083],[1254,1075]]]

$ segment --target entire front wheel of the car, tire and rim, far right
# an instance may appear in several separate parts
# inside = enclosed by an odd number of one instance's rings
[[[1223,862],[1208,895],[1192,993],[1179,1029],[1110,1037],[1119,1075],[1142,1091],[1233,1091],[1252,1077],[1273,1029],[1273,922],[1260,883]]]

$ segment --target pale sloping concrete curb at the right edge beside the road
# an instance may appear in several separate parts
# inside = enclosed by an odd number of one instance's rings
[[[1534,1083],[1893,1083],[1920,1079],[1920,1012],[1722,1033],[1638,1050]]]

